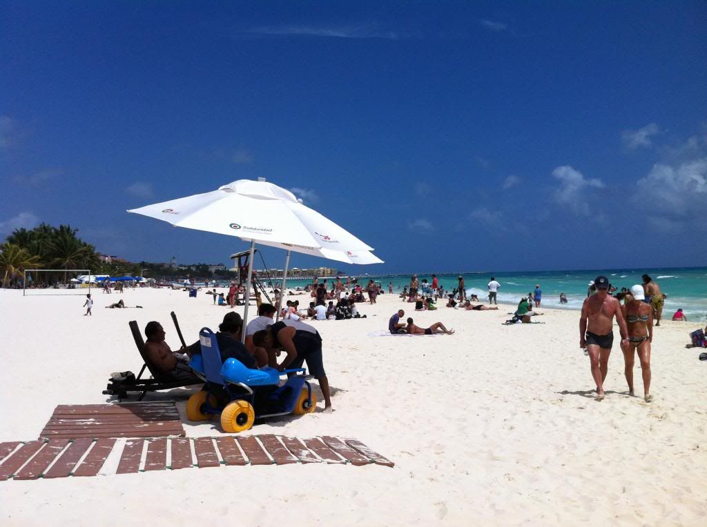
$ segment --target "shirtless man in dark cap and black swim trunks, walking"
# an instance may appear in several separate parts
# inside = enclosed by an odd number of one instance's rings
[[[609,353],[612,353],[614,316],[619,324],[621,345],[629,343],[629,329],[621,313],[619,300],[609,296],[609,279],[597,276],[597,293],[585,299],[579,321],[579,347],[587,348],[591,360],[592,377],[597,384],[597,401],[604,398],[604,379],[607,378]]]

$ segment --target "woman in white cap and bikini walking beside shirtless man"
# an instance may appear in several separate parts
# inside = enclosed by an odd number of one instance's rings
[[[641,374],[643,375],[643,391],[646,403],[650,403],[653,396],[650,395],[650,343],[653,341],[653,309],[650,304],[643,302],[643,286],[634,285],[631,288],[633,300],[621,306],[624,318],[629,325],[629,342],[621,343],[621,351],[624,352],[624,374],[626,382],[629,383],[629,395],[633,396],[633,363],[638,352],[638,359],[641,360]]]

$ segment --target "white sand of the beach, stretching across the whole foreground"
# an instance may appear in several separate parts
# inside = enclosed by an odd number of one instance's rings
[[[0,290],[0,441],[36,439],[58,404],[105,403],[110,372],[141,366],[129,320],[161,321],[176,349],[170,311],[192,342],[227,312],[201,292],[93,293],[87,317],[81,296]],[[144,309],[103,309],[121,298]],[[655,330],[653,403],[628,396],[615,341],[607,398],[597,402],[578,348],[578,312],[541,309],[543,324],[503,326],[513,307],[416,313],[397,295],[378,300],[358,305],[366,319],[312,323],[325,342],[334,413],[321,412],[320,397],[317,413],[257,422],[245,433],[355,437],[395,468],[295,464],[8,480],[0,482],[0,523],[707,524],[707,362],[684,348],[698,324],[665,321]],[[420,326],[443,321],[456,333],[376,335],[400,307]],[[634,376],[642,395],[638,365]],[[186,421],[189,393],[146,400],[177,399],[188,436],[220,434],[216,421]]]

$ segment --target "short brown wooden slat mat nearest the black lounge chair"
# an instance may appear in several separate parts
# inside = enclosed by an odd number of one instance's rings
[[[174,401],[59,405],[40,439],[167,437],[185,435]]]

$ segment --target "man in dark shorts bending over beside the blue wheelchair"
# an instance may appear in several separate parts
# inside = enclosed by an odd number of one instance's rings
[[[322,337],[313,326],[295,320],[281,320],[257,331],[253,343],[265,348],[269,365],[280,371],[288,368],[300,368],[307,362],[310,374],[319,382],[324,395],[324,411],[332,412],[332,396],[329,393],[329,379],[324,371],[322,360]],[[287,355],[280,364],[277,355],[284,350]]]

